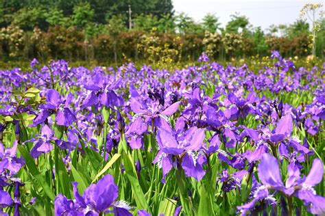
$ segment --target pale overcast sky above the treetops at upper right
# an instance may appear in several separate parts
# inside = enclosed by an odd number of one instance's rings
[[[205,14],[215,13],[222,27],[230,21],[231,14],[239,12],[248,16],[254,27],[267,29],[272,24],[293,23],[299,18],[302,6],[310,2],[324,5],[325,0],[173,0],[173,6],[176,14],[185,12],[197,22]]]

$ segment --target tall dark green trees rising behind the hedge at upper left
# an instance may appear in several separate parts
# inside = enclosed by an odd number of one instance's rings
[[[128,5],[132,6],[133,16],[150,13],[160,18],[173,13],[171,0],[1,0],[0,27],[6,27],[16,20],[15,24],[23,23],[24,28],[27,25],[29,30],[35,25],[40,29],[47,29],[49,25],[64,25],[62,21],[71,18],[73,25],[77,27],[85,27],[91,21],[106,24],[113,15],[125,14]]]

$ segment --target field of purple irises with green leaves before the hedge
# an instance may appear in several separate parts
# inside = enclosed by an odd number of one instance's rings
[[[325,215],[325,64],[0,70],[0,215]]]

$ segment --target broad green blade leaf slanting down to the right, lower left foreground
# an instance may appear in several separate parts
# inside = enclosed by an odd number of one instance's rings
[[[38,183],[43,187],[45,194],[51,199],[54,200],[56,198],[56,195],[53,193],[49,185],[47,185],[47,182],[45,178],[40,174],[38,171],[34,159],[29,154],[29,152],[25,149],[24,146],[19,145],[18,146],[19,152],[25,159],[26,166],[30,172],[30,174],[38,181]]]

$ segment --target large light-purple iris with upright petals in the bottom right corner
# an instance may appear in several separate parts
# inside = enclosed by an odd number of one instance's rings
[[[258,165],[258,178],[263,184],[254,193],[254,199],[239,207],[241,213],[249,211],[254,208],[254,205],[259,200],[267,198],[269,189],[275,189],[281,192],[288,198],[295,196],[304,201],[308,206],[308,210],[315,215],[324,215],[325,213],[325,198],[317,195],[315,192],[315,185],[320,183],[324,174],[324,166],[320,159],[315,159],[308,176],[300,178],[300,170],[298,166],[289,163],[288,178],[285,185],[282,182],[280,167],[275,157],[270,154],[263,154],[260,164]]]

